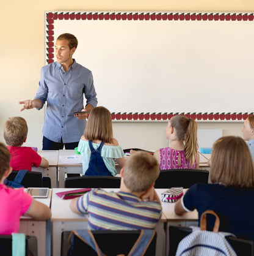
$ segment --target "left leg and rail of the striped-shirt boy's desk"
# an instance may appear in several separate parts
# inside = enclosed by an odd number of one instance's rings
[[[64,222],[64,221],[54,221],[52,222],[52,247],[53,247],[53,256],[61,255],[61,238],[62,232],[64,231],[72,231],[79,229],[87,229],[88,222],[86,221],[72,221],[72,222]]]

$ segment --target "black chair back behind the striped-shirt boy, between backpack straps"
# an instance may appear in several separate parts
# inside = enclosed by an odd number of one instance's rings
[[[67,255],[70,244],[67,244],[68,237],[71,232],[62,232],[61,255]],[[131,231],[115,231],[115,230],[96,230],[92,231],[96,243],[106,255],[128,255],[137,238],[139,238],[140,230]],[[156,251],[156,234],[151,241],[145,256],[154,256]],[[84,254],[85,252],[85,254]],[[88,244],[84,243],[78,236],[74,236],[73,256],[89,255],[97,256],[96,252]]]

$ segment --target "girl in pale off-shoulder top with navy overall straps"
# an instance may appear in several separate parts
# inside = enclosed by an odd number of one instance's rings
[[[111,113],[107,108],[96,107],[90,111],[78,151],[84,176],[115,176],[115,160],[120,168],[125,165],[123,149],[113,138]]]

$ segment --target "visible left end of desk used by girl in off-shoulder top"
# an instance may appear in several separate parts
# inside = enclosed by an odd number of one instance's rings
[[[58,171],[59,171],[59,187],[64,187],[65,174],[66,173],[82,173],[82,162],[81,164],[64,164],[60,157],[62,156],[73,156],[76,152],[74,149],[60,149],[58,157]]]

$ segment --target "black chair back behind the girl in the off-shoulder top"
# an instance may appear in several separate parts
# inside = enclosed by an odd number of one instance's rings
[[[65,187],[114,188],[120,187],[121,178],[114,176],[79,176],[65,179]]]

